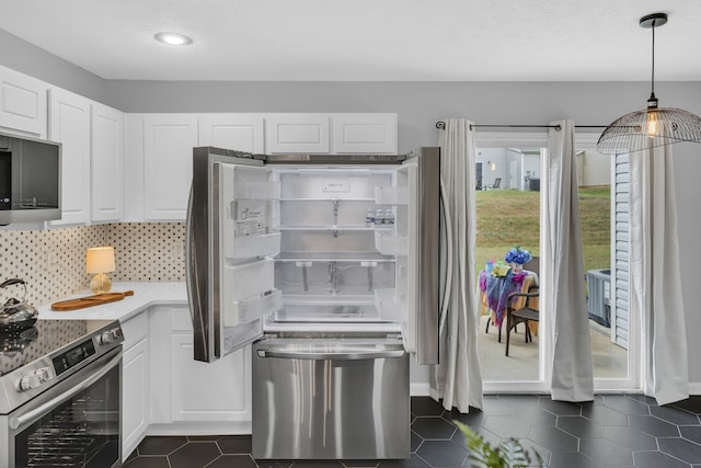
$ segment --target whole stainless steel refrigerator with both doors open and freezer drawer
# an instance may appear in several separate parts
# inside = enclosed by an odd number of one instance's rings
[[[194,148],[194,355],[253,343],[255,458],[409,457],[409,358],[438,363],[440,213],[439,148]]]

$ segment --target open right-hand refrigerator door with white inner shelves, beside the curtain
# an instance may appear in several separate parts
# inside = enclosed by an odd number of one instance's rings
[[[394,289],[376,290],[382,318],[401,323],[404,346],[418,364],[438,364],[440,316],[440,149],[422,148],[378,187],[376,203],[397,212],[394,229],[376,231],[376,248],[397,256]]]

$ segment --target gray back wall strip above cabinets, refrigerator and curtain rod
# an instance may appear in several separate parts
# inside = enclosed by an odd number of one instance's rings
[[[169,82],[110,81],[125,112],[397,112],[400,151],[437,142],[436,121],[608,125],[643,109],[650,83],[611,82]],[[657,83],[660,105],[701,114],[701,82]]]

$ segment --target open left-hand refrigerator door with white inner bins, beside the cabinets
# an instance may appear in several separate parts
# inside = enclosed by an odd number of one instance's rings
[[[223,152],[223,155],[221,155]],[[260,161],[195,148],[187,217],[187,287],[194,356],[212,362],[263,335],[263,317],[280,308],[272,227],[279,183]]]

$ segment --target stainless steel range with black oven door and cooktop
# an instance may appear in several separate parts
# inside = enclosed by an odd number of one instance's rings
[[[0,468],[120,466],[123,340],[97,320],[0,333]]]

